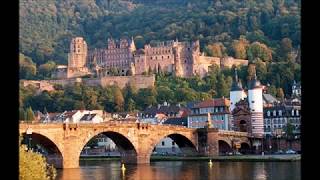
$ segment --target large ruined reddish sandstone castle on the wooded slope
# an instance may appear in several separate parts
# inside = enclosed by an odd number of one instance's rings
[[[131,76],[143,75],[150,70],[168,72],[179,77],[204,77],[213,64],[224,68],[248,65],[248,60],[204,56],[200,52],[199,40],[191,43],[171,40],[156,45],[147,44],[137,50],[133,38],[122,38],[120,41],[109,38],[106,48],[88,51],[86,41],[76,37],[70,43],[68,66],[58,66],[55,77],[106,77],[114,71],[120,76]]]

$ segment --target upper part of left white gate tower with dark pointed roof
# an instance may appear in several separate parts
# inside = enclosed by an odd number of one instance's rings
[[[233,111],[237,102],[246,98],[246,94],[242,88],[241,81],[238,79],[237,68],[235,68],[234,71],[235,77],[233,79],[230,90],[230,112]]]

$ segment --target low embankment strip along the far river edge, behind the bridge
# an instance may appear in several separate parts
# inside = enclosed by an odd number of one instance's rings
[[[240,155],[240,156],[213,156],[213,157],[180,157],[180,156],[151,156],[151,161],[246,161],[246,162],[291,162],[300,161],[300,154],[290,155]],[[80,160],[116,161],[120,157],[80,157]]]

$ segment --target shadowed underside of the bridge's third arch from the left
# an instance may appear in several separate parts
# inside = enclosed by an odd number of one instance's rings
[[[164,136],[159,136],[157,139],[151,142],[150,149],[147,152],[148,156],[151,156],[153,149],[159,144],[163,139],[165,138],[171,138],[180,148],[180,151],[183,154],[195,154],[197,153],[197,146],[195,143],[186,137],[183,134],[180,133],[171,133]]]

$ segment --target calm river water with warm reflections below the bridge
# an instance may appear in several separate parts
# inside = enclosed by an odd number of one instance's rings
[[[213,162],[158,161],[145,165],[126,165],[119,161],[80,161],[80,168],[58,170],[59,180],[300,180],[298,162]]]

